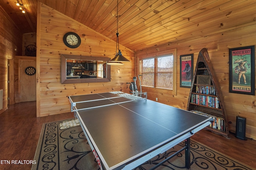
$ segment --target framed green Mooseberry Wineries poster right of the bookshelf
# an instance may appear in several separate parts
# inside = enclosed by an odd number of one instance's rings
[[[255,95],[254,48],[229,49],[229,92]]]

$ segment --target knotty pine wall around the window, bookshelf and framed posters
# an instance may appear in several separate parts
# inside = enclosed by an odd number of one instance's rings
[[[229,93],[229,48],[256,45],[256,23],[239,25],[232,30],[213,33],[207,37],[187,39],[178,43],[168,43],[136,53],[137,60],[158,51],[177,49],[177,95],[170,90],[143,87],[148,98],[170,106],[186,109],[190,88],[180,88],[180,55],[194,53],[194,68],[198,53],[207,48],[214,72],[224,98],[230,131],[236,130],[236,116],[246,117],[246,137],[256,139],[256,96]],[[136,69],[138,70],[138,68]],[[254,70],[256,70],[254,68]],[[136,73],[138,74],[138,73]]]

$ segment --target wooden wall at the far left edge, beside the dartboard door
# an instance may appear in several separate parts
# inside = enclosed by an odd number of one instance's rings
[[[3,109],[0,113],[4,112],[8,105],[8,60],[21,53],[22,34],[0,6],[0,89],[3,89]],[[13,70],[10,70],[10,74],[13,74]]]

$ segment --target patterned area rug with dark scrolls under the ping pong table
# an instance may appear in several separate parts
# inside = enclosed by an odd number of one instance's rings
[[[252,170],[247,165],[220,152],[190,140],[191,170]],[[134,170],[148,170],[184,143],[176,145],[138,166]],[[171,158],[158,170],[185,170],[185,152]],[[99,170],[96,159],[77,119],[45,123],[42,127],[32,170]]]

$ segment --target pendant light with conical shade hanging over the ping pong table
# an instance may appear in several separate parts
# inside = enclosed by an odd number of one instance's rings
[[[116,55],[113,59],[111,59],[107,64],[108,65],[124,65],[122,62],[130,62],[128,59],[126,59],[122,53],[121,50],[119,49],[119,39],[118,39],[118,0],[117,0],[117,12],[116,12],[116,25],[117,25],[117,29],[116,29]],[[117,51],[118,49],[118,51]]]

